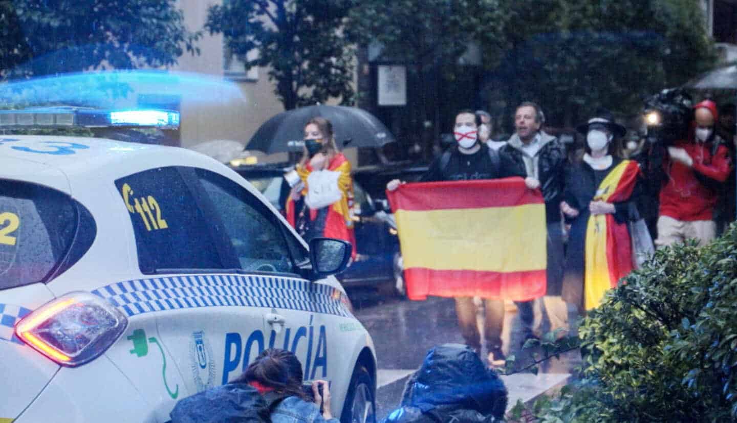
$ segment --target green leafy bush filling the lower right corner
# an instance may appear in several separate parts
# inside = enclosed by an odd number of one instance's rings
[[[737,225],[703,248],[665,248],[579,329],[581,379],[542,422],[737,420]]]

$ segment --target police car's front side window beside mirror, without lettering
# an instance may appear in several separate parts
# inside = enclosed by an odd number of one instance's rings
[[[198,169],[202,186],[243,270],[294,273],[282,223],[254,195],[217,173]]]

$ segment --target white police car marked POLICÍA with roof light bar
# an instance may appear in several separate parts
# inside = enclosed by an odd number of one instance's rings
[[[21,114],[0,124],[83,121]],[[270,347],[331,382],[343,422],[373,420],[371,337],[325,276],[349,252],[315,241],[199,153],[0,135],[0,423],[165,422]]]

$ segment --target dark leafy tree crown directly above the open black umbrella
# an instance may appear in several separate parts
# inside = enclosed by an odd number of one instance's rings
[[[214,5],[205,25],[223,33],[245,63],[269,66],[287,110],[330,97],[351,103],[355,49],[343,35],[350,0],[231,0]],[[252,50],[258,57],[248,59]]]

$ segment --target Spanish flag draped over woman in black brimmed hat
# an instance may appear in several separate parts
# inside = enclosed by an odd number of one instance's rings
[[[629,200],[635,189],[640,166],[623,160],[598,186],[594,201],[618,203]],[[632,242],[626,223],[617,223],[613,214],[592,214],[586,227],[584,249],[584,307],[598,307],[604,293],[617,287],[619,279],[634,268]]]

